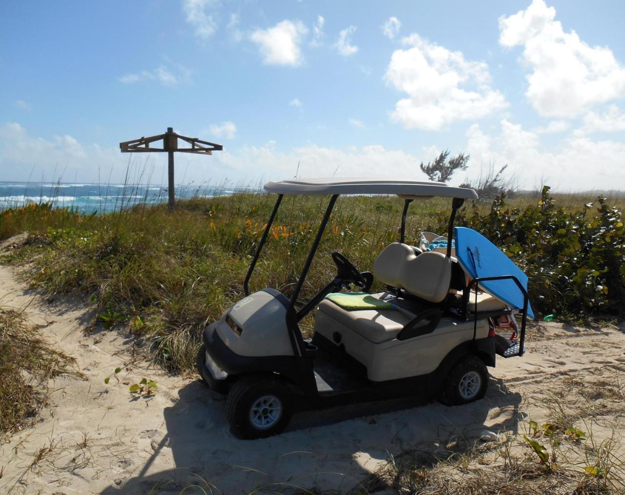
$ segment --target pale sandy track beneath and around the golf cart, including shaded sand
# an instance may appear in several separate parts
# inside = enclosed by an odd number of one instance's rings
[[[158,486],[156,493],[177,493],[193,483],[206,489],[206,482],[226,494],[287,484],[347,491],[389,452],[444,444],[454,436],[472,439],[485,429],[516,431],[522,402],[544,396],[562,376],[607,378],[625,363],[622,329],[550,324],[534,332],[522,359],[499,359],[482,401],[446,407],[404,400],[300,413],[287,432],[250,442],[231,436],[224,399],[193,377],[135,363],[120,380],[155,379],[153,397],[133,399],[114,378],[106,386],[104,377],[132,361],[130,336],[84,336],[93,314],[80,301],[49,304],[2,266],[0,294],[3,306],[27,306],[32,322],[49,324],[43,331],[86,376],[52,381],[51,407],[41,421],[0,446],[0,492],[148,493]],[[540,421],[545,413],[530,414]],[[200,491],[185,491],[192,492]]]

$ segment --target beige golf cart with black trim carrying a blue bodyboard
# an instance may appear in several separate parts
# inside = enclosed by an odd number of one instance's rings
[[[227,416],[240,438],[282,431],[294,405],[321,408],[400,396],[437,396],[448,405],[484,396],[486,366],[495,356],[522,356],[527,277],[481,234],[454,229],[456,211],[472,189],[389,179],[294,179],[265,184],[277,194],[244,281],[246,297],[209,324],[197,356],[202,379],[227,393]],[[276,289],[249,294],[248,283],[285,194],[331,196],[290,299]],[[341,194],[396,194],[404,200],[399,242],[361,272],[332,252],[337,274],[301,305],[298,296],[332,208]],[[406,213],[415,199],[452,199],[446,236],[424,232],[405,240]],[[386,290],[369,294],[379,281]],[[359,292],[341,292],[356,286]],[[314,334],[298,322],[316,311]],[[514,314],[521,314],[521,325]],[[516,340],[516,337],[519,337]]]

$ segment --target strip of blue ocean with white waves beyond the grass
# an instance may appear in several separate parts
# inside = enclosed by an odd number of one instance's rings
[[[177,185],[176,199],[229,196],[238,191],[257,191],[253,187]],[[71,207],[79,213],[119,211],[136,204],[168,201],[168,187],[151,184],[70,184],[0,182],[0,210],[30,202],[49,202]]]

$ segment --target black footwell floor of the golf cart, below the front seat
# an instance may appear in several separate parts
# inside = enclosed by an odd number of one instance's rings
[[[366,388],[368,380],[350,366],[319,349],[313,359],[314,377],[320,395],[357,391]]]

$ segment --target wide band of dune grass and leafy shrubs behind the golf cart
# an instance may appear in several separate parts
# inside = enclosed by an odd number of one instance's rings
[[[25,281],[48,294],[83,294],[98,306],[101,324],[129,324],[157,361],[179,371],[191,369],[204,325],[242,297],[274,199],[247,192],[180,201],[173,212],[138,204],[101,215],[29,204],[0,213],[0,239],[28,232],[26,245],[4,257],[21,266]],[[622,198],[615,200],[617,206],[601,196],[552,195],[545,187],[537,197],[469,201],[457,224],[482,232],[527,272],[539,315],[610,319],[622,315],[625,299],[625,219]],[[406,242],[417,244],[422,230],[444,233],[449,203],[414,202]],[[285,197],[252,290],[289,294],[326,204],[326,197]],[[397,197],[339,198],[302,301],[333,276],[335,249],[370,269],[398,239],[402,206]],[[311,323],[302,321],[302,330]]]

